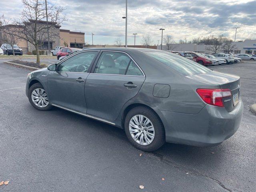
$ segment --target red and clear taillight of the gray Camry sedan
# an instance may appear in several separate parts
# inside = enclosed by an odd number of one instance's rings
[[[222,98],[232,95],[230,89],[197,89],[196,92],[204,102],[218,107],[224,107]]]

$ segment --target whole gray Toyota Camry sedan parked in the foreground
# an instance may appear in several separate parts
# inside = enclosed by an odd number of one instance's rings
[[[240,126],[240,77],[152,49],[90,48],[28,74],[26,95],[125,130],[144,151],[213,146]]]

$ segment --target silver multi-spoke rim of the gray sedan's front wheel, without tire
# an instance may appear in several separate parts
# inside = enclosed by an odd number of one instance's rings
[[[42,88],[36,88],[31,94],[32,102],[38,107],[46,107],[49,104],[46,91]]]

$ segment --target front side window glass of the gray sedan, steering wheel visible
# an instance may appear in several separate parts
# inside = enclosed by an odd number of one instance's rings
[[[87,73],[92,60],[96,56],[96,51],[76,54],[62,62],[58,66],[58,71],[62,72],[82,72]]]

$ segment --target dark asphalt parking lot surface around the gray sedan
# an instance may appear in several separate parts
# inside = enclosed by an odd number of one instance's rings
[[[256,191],[256,116],[249,110],[256,62],[209,68],[241,77],[244,115],[236,134],[215,147],[165,144],[146,153],[119,128],[34,109],[25,95],[30,71],[0,60],[0,180],[10,181],[0,191]]]

